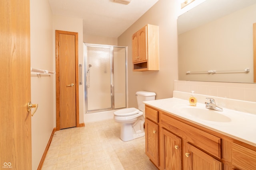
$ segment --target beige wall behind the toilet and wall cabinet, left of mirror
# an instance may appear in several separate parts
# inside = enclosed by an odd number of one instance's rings
[[[178,0],[159,0],[120,37],[119,46],[128,46],[129,107],[138,107],[135,93],[146,90],[156,93],[156,99],[172,97],[174,80],[178,79],[177,15]],[[132,71],[132,34],[146,24],[159,26],[160,70]]]

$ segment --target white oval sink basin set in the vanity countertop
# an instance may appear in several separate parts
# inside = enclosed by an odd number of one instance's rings
[[[189,105],[176,105],[174,106],[174,109],[196,119],[222,123],[231,122],[230,117],[225,115],[225,111],[216,111],[202,106],[198,107]]]

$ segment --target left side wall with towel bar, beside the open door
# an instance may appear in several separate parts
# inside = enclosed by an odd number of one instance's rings
[[[55,71],[52,62],[52,11],[46,0],[30,1],[31,67]],[[55,75],[31,76],[31,102],[38,104],[32,117],[32,169],[36,170],[50,139],[55,115]],[[33,110],[33,109],[32,109]]]

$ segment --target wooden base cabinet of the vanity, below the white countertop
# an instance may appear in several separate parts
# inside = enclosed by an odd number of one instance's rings
[[[146,154],[160,170],[256,169],[252,145],[148,105],[145,116]],[[154,129],[158,136],[149,135]]]

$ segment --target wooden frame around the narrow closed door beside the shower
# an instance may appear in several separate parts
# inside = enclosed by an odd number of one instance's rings
[[[56,66],[56,131],[60,130],[60,67],[59,67],[59,34],[75,36],[75,88],[76,88],[76,127],[79,126],[79,80],[78,80],[78,33],[69,31],[55,30],[55,66]]]

